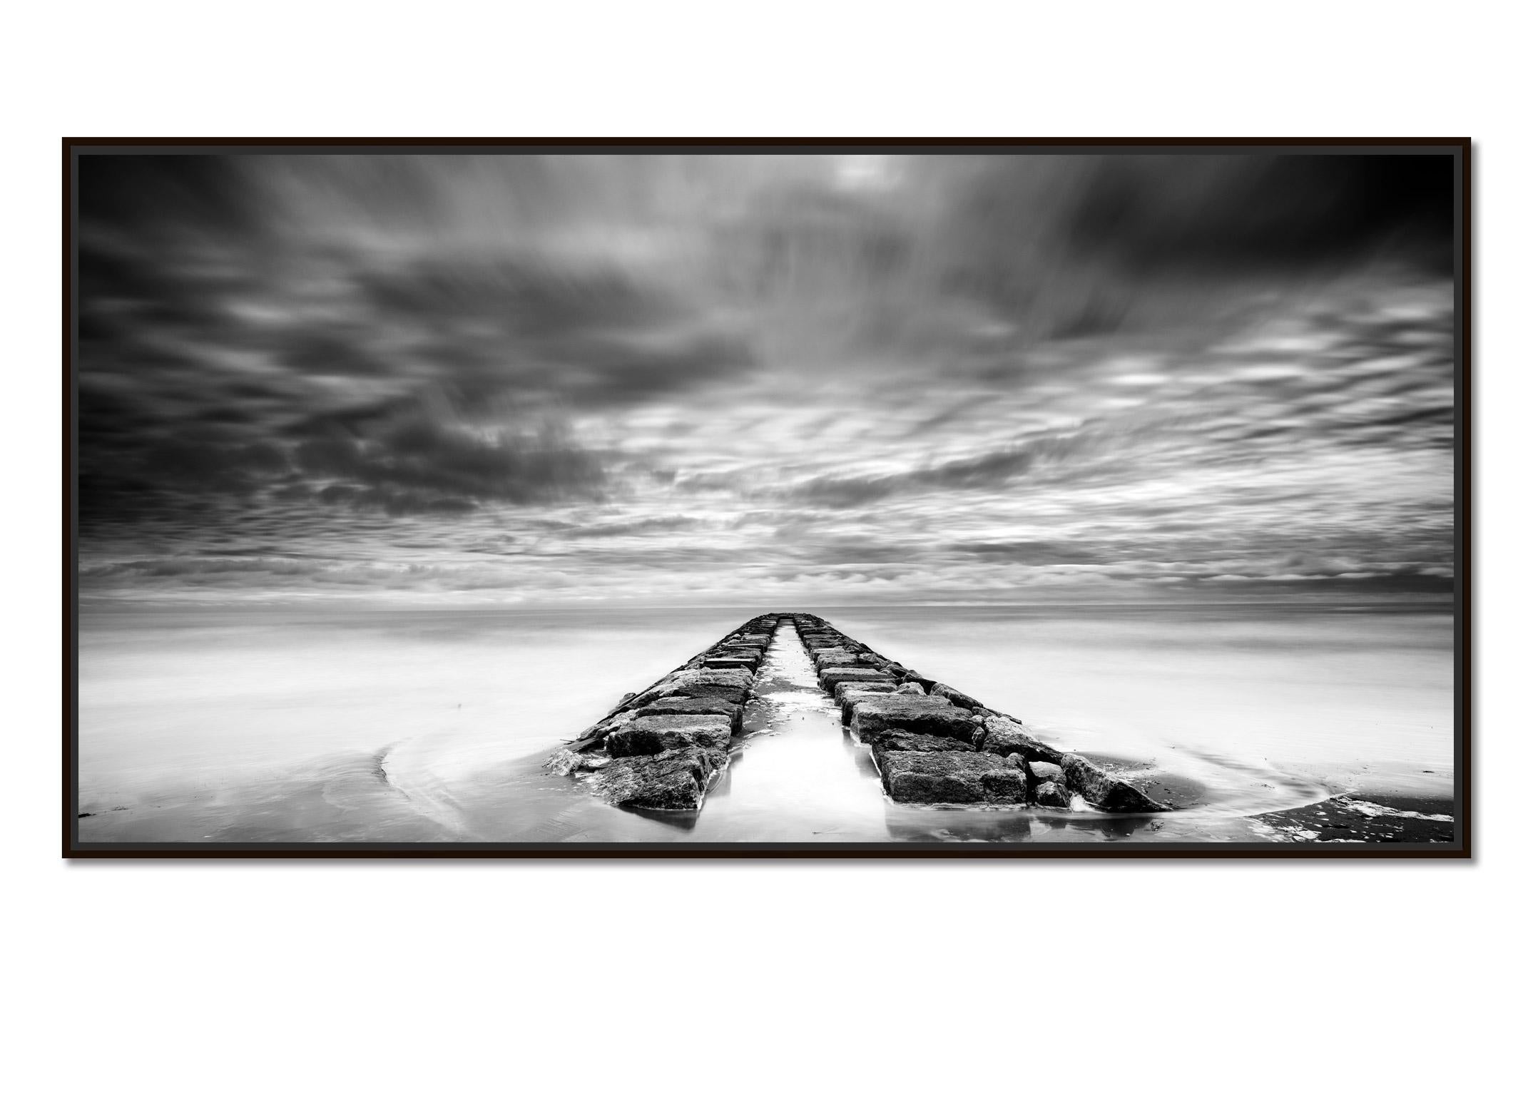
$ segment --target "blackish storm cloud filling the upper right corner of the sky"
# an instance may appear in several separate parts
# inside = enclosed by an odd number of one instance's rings
[[[1251,283],[1453,267],[1450,155],[993,156],[946,181],[944,293],[1030,337],[1153,331]]]

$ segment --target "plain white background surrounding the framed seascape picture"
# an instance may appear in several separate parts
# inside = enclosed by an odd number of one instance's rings
[[[1518,1085],[1533,178],[1515,11],[12,11],[0,1076],[113,1095]],[[58,860],[66,133],[1476,138],[1476,861]]]

